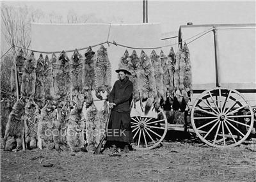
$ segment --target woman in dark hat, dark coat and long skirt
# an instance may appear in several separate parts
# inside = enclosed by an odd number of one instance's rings
[[[111,116],[107,141],[108,144],[124,148],[127,152],[128,148],[132,150],[130,144],[133,142],[130,116],[133,84],[128,78],[128,75],[131,75],[128,70],[120,69],[116,70],[116,73],[119,75],[119,80],[115,82],[108,98]]]

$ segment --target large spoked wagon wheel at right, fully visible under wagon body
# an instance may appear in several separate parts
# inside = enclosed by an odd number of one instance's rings
[[[196,135],[209,146],[237,146],[250,135],[253,110],[238,91],[216,87],[196,99],[191,124]]]

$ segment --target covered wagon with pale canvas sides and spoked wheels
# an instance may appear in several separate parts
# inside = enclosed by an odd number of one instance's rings
[[[256,24],[180,26],[179,43],[188,44],[192,69],[191,127],[209,146],[237,146],[255,133],[255,31]],[[131,119],[140,149],[156,148],[168,129],[179,130],[168,124],[161,108],[148,114],[134,109]]]

